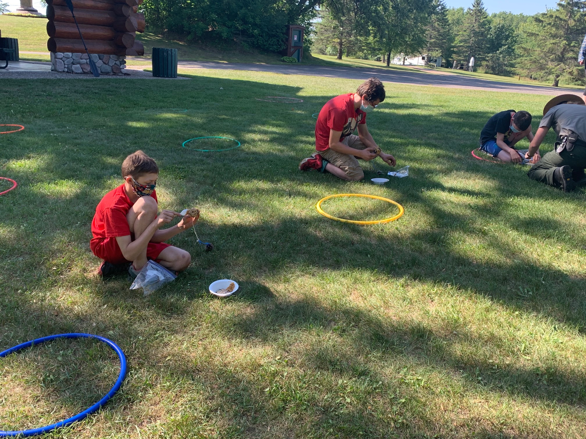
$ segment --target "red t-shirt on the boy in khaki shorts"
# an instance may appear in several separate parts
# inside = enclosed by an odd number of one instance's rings
[[[323,105],[315,124],[315,149],[325,151],[329,148],[329,133],[342,131],[340,142],[354,132],[358,124],[366,124],[366,113],[354,109],[354,93],[332,98]]]

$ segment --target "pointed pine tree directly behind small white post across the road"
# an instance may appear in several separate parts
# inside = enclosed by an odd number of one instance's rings
[[[456,47],[461,57],[470,60],[475,57],[481,61],[485,55],[487,47],[487,36],[489,30],[489,20],[486,9],[482,0],[474,0],[472,8],[464,14],[464,20],[458,36],[456,37]]]

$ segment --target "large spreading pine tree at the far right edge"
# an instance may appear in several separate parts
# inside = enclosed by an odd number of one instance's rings
[[[527,76],[553,80],[553,87],[558,87],[561,77],[582,80],[576,64],[586,32],[586,1],[564,0],[557,6],[523,26],[523,57],[518,63]]]

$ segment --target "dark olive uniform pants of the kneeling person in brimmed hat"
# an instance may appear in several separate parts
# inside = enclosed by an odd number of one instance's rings
[[[563,150],[561,153],[550,151],[546,153],[541,160],[534,164],[527,175],[530,179],[541,181],[541,183],[550,186],[558,186],[553,178],[556,168],[561,166],[570,166],[573,176],[580,176],[586,168],[586,147],[574,145],[571,151]]]

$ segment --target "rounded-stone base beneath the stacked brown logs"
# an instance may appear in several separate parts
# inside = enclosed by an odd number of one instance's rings
[[[126,57],[90,54],[101,75],[123,75]],[[51,71],[91,74],[87,53],[51,52]]]

